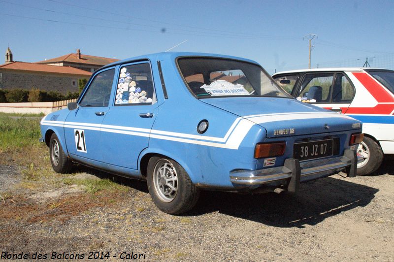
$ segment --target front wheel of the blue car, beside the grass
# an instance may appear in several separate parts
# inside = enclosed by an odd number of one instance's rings
[[[49,140],[49,158],[53,170],[57,173],[66,174],[71,171],[72,162],[63,151],[58,136],[53,133]]]

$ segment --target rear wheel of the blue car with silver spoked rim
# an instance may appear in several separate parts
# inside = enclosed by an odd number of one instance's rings
[[[171,159],[152,157],[148,163],[147,182],[153,202],[167,214],[187,212],[197,203],[198,188],[185,169]]]

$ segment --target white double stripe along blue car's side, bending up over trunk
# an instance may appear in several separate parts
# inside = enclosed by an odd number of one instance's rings
[[[262,114],[250,115],[245,117],[238,117],[230,126],[224,137],[213,137],[204,135],[195,135],[171,131],[150,130],[125,126],[101,125],[90,123],[77,123],[77,122],[63,122],[63,121],[41,121],[41,125],[57,126],[65,128],[83,128],[87,130],[113,132],[120,134],[144,136],[156,139],[177,141],[183,143],[191,143],[197,145],[206,145],[212,147],[220,147],[227,149],[238,149],[247,133],[254,125],[263,123],[289,121],[299,119],[317,119],[317,118],[346,118],[348,116],[338,113],[322,113],[322,112],[295,112],[295,113],[277,113],[277,114]],[[198,140],[197,140],[198,139]],[[205,140],[205,141],[200,141]]]

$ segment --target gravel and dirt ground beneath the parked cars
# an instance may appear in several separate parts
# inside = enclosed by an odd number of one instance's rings
[[[59,261],[82,254],[111,261],[127,254],[147,261],[394,261],[393,159],[374,175],[302,184],[297,196],[204,192],[182,216],[159,211],[141,181],[87,168],[29,179],[22,169],[0,165],[2,254]],[[118,186],[92,193],[90,184],[70,182],[103,178]]]

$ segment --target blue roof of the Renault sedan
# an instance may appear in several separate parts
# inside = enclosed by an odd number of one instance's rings
[[[117,66],[120,64],[125,64],[125,63],[132,63],[135,61],[141,61],[141,60],[149,60],[149,61],[162,61],[162,60],[172,60],[174,61],[178,57],[215,57],[215,58],[227,58],[227,59],[233,59],[233,60],[240,60],[240,61],[245,61],[253,64],[259,65],[256,61],[250,60],[250,59],[245,59],[241,57],[234,57],[234,56],[227,56],[227,55],[219,55],[219,54],[209,54],[209,53],[196,53],[196,52],[161,52],[161,53],[154,53],[154,54],[149,54],[149,55],[144,55],[144,56],[137,56],[137,57],[131,57],[127,58],[124,60],[120,60],[111,64],[108,64],[106,66],[103,66],[101,68],[105,67],[110,67],[110,66]]]

